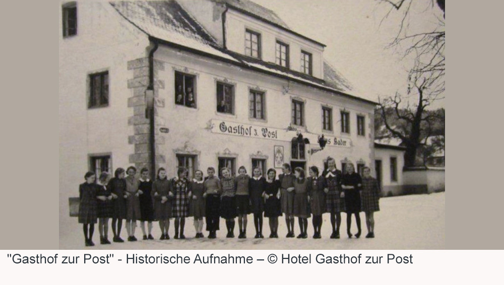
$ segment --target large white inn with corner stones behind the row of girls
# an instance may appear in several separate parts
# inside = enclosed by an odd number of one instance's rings
[[[60,18],[60,205],[86,171],[130,165],[175,175],[332,156],[374,168],[375,103],[352,93],[324,44],[264,7],[71,2]]]

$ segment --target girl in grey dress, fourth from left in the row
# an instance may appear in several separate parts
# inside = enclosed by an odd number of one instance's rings
[[[135,177],[137,168],[134,166],[128,167],[126,170],[126,231],[128,232],[128,241],[137,241],[135,237],[135,229],[137,228],[137,220],[140,220],[140,194],[138,187],[140,181]]]

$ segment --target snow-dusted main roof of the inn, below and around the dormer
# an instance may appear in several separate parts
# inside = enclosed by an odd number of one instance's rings
[[[223,0],[213,0],[223,1]],[[235,2],[228,0],[229,2]],[[240,0],[242,2],[244,0]],[[227,2],[227,1],[226,1]],[[247,1],[249,2],[249,1]],[[376,104],[373,101],[349,94],[352,88],[341,74],[324,62],[324,80],[274,63],[264,62],[224,49],[198,21],[176,1],[117,1],[110,5],[127,21],[135,25],[151,40],[185,49],[217,60],[254,71],[293,80],[324,89],[340,96]],[[269,10],[268,10],[269,11]]]

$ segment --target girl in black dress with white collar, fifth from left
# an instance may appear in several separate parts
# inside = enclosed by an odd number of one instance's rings
[[[140,185],[138,186],[140,193],[140,228],[144,235],[143,239],[154,239],[152,236],[152,221],[154,221],[154,206],[152,202],[152,181],[149,179],[149,169],[142,168],[140,170]],[[145,231],[145,222],[147,222],[147,230]]]

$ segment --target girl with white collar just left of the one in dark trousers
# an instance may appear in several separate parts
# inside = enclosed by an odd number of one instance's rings
[[[203,197],[203,194],[206,191],[204,182],[203,171],[196,170],[195,178],[191,182],[193,197],[189,204],[190,215],[194,217],[195,238],[203,237],[203,217],[205,217],[205,197]]]

